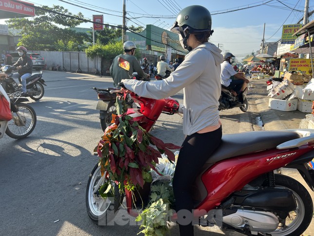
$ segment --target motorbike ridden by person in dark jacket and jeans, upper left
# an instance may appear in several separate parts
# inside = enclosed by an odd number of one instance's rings
[[[13,70],[15,69],[16,67],[11,65],[5,65],[1,68],[2,72],[7,74],[7,78],[4,80],[5,84],[3,84],[5,91],[8,94],[15,94],[18,96],[22,94],[22,85],[17,83],[17,81],[21,82],[21,80],[18,73],[13,73]],[[32,74],[30,78],[26,79],[26,89],[29,90],[27,92],[29,97],[36,101],[42,98],[45,92],[43,85],[47,86],[45,80],[42,79],[42,71],[40,71],[40,73]]]

